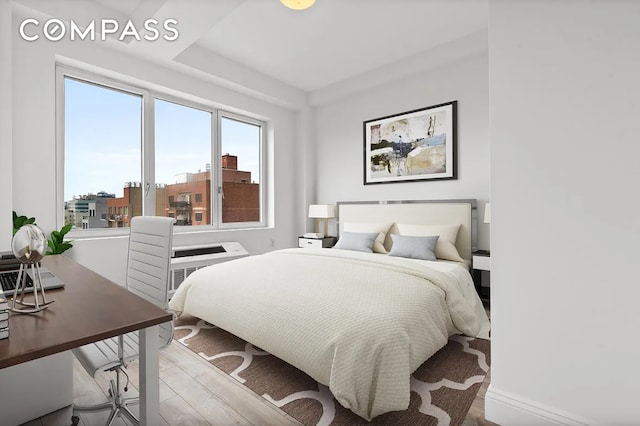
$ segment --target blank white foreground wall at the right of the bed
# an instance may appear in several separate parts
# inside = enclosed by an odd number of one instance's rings
[[[639,17],[490,1],[491,421],[640,424]]]

